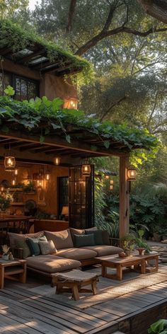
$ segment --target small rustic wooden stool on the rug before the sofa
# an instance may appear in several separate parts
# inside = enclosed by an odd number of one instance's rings
[[[52,286],[57,287],[55,293],[72,292],[74,300],[79,300],[79,292],[93,292],[93,294],[97,294],[97,282],[97,275],[81,270],[52,274]],[[83,289],[88,284],[91,284],[91,289]]]

